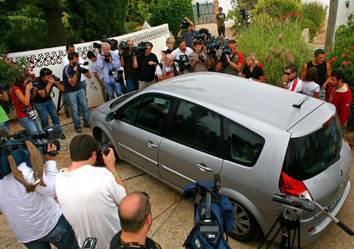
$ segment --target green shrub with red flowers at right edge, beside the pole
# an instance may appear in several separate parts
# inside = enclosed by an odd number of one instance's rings
[[[341,25],[336,30],[333,50],[326,56],[332,70],[341,69],[345,76],[345,82],[354,93],[354,16],[348,17],[347,25]],[[350,107],[348,120],[349,129],[354,129],[354,104]]]

